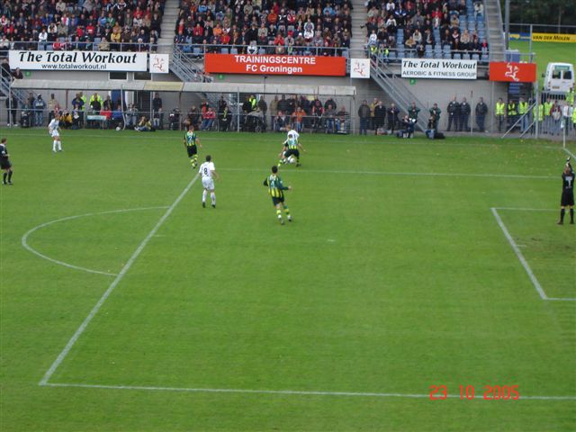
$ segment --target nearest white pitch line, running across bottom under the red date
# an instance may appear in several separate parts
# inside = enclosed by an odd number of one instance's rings
[[[243,389],[193,389],[185,387],[151,387],[139,385],[100,385],[100,384],[72,384],[72,383],[46,383],[49,387],[76,387],[83,389],[104,390],[133,390],[149,392],[194,392],[194,393],[253,393],[253,394],[285,394],[301,396],[351,396],[373,398],[404,398],[404,399],[428,399],[429,394],[410,393],[377,393],[377,392],[314,392],[295,390],[243,390]],[[460,395],[448,394],[448,398],[460,399]],[[475,399],[483,399],[476,396]],[[576,401],[576,396],[520,396],[520,401]]]

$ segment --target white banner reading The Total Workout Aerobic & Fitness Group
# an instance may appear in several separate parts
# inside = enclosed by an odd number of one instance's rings
[[[402,59],[402,78],[476,79],[476,60]]]

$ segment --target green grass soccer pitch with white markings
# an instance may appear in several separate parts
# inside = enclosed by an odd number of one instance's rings
[[[3,431],[576,429],[574,141],[2,134]]]

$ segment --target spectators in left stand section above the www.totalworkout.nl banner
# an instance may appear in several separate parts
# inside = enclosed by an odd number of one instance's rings
[[[0,56],[8,49],[154,50],[165,0],[4,0]]]

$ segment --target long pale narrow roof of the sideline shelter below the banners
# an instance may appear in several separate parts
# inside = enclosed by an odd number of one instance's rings
[[[180,83],[169,81],[58,81],[50,79],[20,79],[14,88],[30,90],[128,90],[148,92],[206,92],[254,94],[319,94],[355,96],[351,85],[291,85],[249,83]]]

